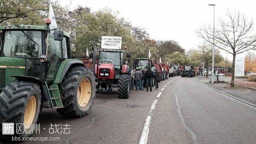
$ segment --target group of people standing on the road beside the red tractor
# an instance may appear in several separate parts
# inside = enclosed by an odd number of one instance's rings
[[[131,90],[132,91],[138,91],[138,90],[144,90],[143,88],[146,88],[146,91],[152,91],[152,87],[154,87],[153,79],[155,82],[155,90],[158,90],[158,81],[159,81],[159,75],[157,74],[157,70],[155,67],[147,67],[147,68],[137,68],[134,67],[131,70]],[[134,89],[134,83],[136,84]]]

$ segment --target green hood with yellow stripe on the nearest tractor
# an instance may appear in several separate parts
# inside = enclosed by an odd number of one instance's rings
[[[25,76],[25,71],[25,59],[0,57],[0,88],[14,80],[11,76]]]

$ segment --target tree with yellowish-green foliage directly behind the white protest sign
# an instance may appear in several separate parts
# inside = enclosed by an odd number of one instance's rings
[[[83,57],[87,47],[101,48],[101,36],[120,36],[122,45],[131,48],[130,29],[130,23],[123,18],[117,18],[117,14],[112,10],[103,9],[93,13],[82,13],[81,25],[75,28],[76,56]]]

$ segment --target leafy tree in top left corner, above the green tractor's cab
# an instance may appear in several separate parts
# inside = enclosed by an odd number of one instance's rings
[[[43,24],[48,0],[0,0],[0,25]]]

